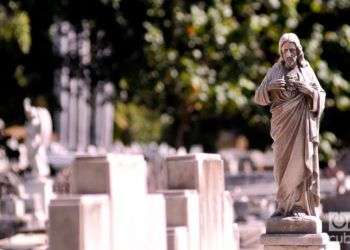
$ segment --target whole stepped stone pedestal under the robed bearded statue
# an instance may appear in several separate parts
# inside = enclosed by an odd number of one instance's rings
[[[260,242],[264,250],[340,250],[338,242],[322,233],[321,220],[314,216],[270,218]]]

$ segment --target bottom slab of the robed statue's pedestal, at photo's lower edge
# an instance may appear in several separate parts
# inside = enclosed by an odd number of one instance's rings
[[[338,242],[330,242],[326,233],[264,234],[260,238],[264,250],[338,250]]]

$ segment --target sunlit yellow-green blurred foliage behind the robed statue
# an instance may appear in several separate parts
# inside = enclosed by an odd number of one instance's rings
[[[190,133],[194,123],[208,117],[243,119],[248,131],[267,128],[267,110],[257,108],[252,95],[279,57],[281,34],[296,32],[328,93],[327,107],[349,111],[349,76],[327,63],[338,47],[349,56],[349,25],[340,21],[327,27],[327,21],[315,21],[346,15],[348,5],[298,0],[150,1],[144,23],[147,67],[139,94],[146,104],[179,120],[175,123],[176,137],[182,137],[179,144],[185,142],[181,132]]]

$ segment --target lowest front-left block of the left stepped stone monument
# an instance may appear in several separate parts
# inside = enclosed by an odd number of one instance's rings
[[[50,250],[110,249],[107,195],[65,196],[49,207]]]

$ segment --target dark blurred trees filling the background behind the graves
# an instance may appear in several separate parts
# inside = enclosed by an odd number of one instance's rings
[[[4,0],[0,117],[22,123],[27,95],[57,108],[50,27],[84,22],[92,50],[108,48],[90,67],[96,79],[116,85],[117,138],[215,151],[219,132],[229,130],[265,149],[269,112],[251,98],[278,59],[279,37],[295,32],[327,91],[321,152],[328,160],[350,144],[349,14],[347,0]]]

